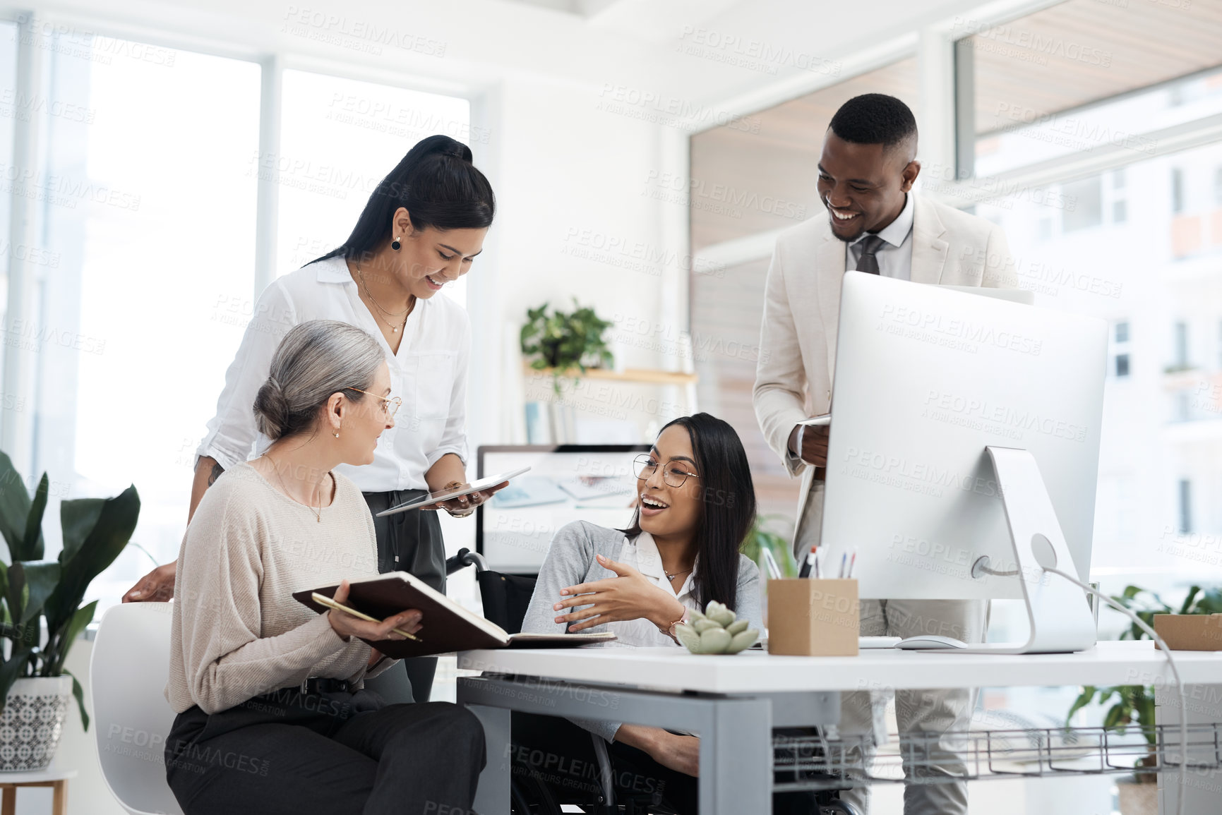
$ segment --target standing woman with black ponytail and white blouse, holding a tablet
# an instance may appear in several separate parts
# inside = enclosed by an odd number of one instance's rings
[[[466,483],[470,323],[461,305],[435,294],[470,269],[495,209],[492,187],[472,164],[470,149],[447,136],[430,136],[378,185],[342,246],[264,290],[196,451],[188,523],[221,473],[266,448],[269,440],[255,426],[254,397],[268,381],[280,340],[308,320],[364,329],[378,338],[390,367],[391,393],[402,404],[395,426],[379,439],[373,463],[338,468],[370,511]],[[436,508],[466,517],[490,494]],[[435,512],[403,512],[374,524],[380,572],[411,572],[445,590],[445,544]],[[123,600],[169,600],[175,572],[175,563],[158,567]],[[426,701],[436,660],[404,662],[414,699]]]

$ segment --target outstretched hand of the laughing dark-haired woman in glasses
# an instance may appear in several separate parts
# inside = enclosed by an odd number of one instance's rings
[[[555,622],[571,623],[568,630],[578,632],[602,623],[645,618],[662,628],[683,616],[683,604],[649,582],[644,574],[626,563],[598,556],[599,566],[616,577],[590,583],[578,583],[560,594],[565,598],[554,611],[585,606],[556,617]]]

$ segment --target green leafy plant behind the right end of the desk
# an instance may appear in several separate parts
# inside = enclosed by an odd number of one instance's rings
[[[1194,585],[1179,609],[1172,609],[1154,591],[1140,587],[1125,587],[1124,594],[1113,595],[1112,600],[1121,604],[1144,623],[1154,627],[1155,615],[1211,615],[1222,612],[1222,589],[1202,590]],[[1132,623],[1121,634],[1121,639],[1149,639],[1149,635],[1136,623]],[[1069,707],[1068,721],[1081,707],[1095,703],[1112,703],[1103,716],[1107,729],[1135,727],[1146,742],[1146,754],[1136,760],[1130,780],[1119,781],[1117,787],[1121,798],[1122,815],[1156,815],[1158,811],[1158,731],[1155,727],[1155,689],[1152,685],[1113,685],[1096,688],[1086,685]]]

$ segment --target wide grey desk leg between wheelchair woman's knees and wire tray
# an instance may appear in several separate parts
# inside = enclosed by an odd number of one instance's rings
[[[772,704],[716,699],[700,733],[700,815],[772,811]]]

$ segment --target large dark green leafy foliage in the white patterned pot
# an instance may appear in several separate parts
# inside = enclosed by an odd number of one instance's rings
[[[0,638],[10,640],[9,656],[0,651],[0,710],[18,678],[71,676],[64,663],[98,607],[97,600],[82,606],[84,594],[123,551],[141,512],[134,486],[112,499],[61,501],[64,547],[51,561],[44,560],[46,497],[45,473],[31,499],[12,461],[0,453],[0,534],[9,545],[10,561],[9,566],[0,563]],[[88,729],[84,694],[76,677],[72,695]]]

